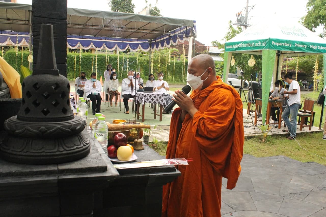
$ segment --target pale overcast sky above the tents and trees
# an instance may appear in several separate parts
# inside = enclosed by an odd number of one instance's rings
[[[135,12],[146,6],[145,0],[132,0]],[[18,0],[18,3],[32,4],[32,0]],[[156,0],[148,0],[152,6]],[[210,46],[211,41],[219,40],[227,32],[228,21],[236,21],[235,14],[245,12],[246,0],[200,0],[200,1],[158,0],[158,8],[165,17],[197,21],[197,40]],[[270,22],[273,14],[284,18],[284,22],[298,22],[306,14],[307,0],[249,0],[249,6],[255,7],[249,12],[252,24]],[[68,7],[91,10],[110,10],[108,0],[68,0]],[[250,28],[250,27],[249,27]]]

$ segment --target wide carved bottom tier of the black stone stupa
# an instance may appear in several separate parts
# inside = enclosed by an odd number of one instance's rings
[[[8,134],[0,143],[0,156],[22,164],[59,164],[87,156],[90,141],[85,133],[57,139],[17,137]]]

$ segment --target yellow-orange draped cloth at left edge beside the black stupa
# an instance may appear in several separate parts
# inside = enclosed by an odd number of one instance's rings
[[[0,72],[8,85],[11,98],[22,98],[22,84],[19,73],[0,57]]]

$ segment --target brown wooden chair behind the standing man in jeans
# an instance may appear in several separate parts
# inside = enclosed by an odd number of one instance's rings
[[[300,124],[300,131],[305,126],[309,126],[309,130],[311,130],[313,116],[314,116],[314,103],[315,103],[314,100],[308,100],[308,99],[304,100],[304,108],[303,110],[300,110],[300,112],[298,112],[299,120],[297,124]],[[308,118],[310,118],[309,121]]]

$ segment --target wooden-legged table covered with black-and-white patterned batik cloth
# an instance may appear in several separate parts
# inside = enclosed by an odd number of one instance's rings
[[[143,93],[137,92],[135,96],[136,103],[138,105],[138,113],[137,119],[139,120],[139,116],[142,117],[141,121],[145,121],[145,103],[154,103],[154,119],[156,119],[156,115],[160,117],[160,121],[162,121],[162,111],[163,107],[166,107],[171,101],[172,96],[170,94],[163,93]],[[142,113],[139,114],[139,107],[142,105]],[[156,104],[160,104],[159,114],[156,114]]]

